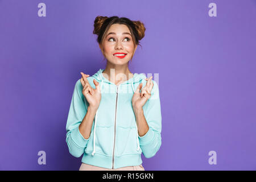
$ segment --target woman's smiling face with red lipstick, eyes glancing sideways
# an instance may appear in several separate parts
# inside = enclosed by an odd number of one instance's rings
[[[125,24],[112,24],[106,35],[104,40],[104,55],[106,59],[116,65],[127,64],[137,48],[136,45],[134,49],[129,28]],[[126,55],[123,57],[114,55],[115,53],[125,53]]]

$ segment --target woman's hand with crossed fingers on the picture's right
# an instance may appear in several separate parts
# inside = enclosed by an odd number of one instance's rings
[[[136,91],[133,94],[133,98],[131,100],[133,104],[133,110],[138,111],[142,110],[142,107],[147,102],[148,98],[151,96],[151,90],[154,86],[152,82],[152,76],[150,78],[145,78],[147,80],[146,85],[142,88],[142,83],[138,85]],[[142,90],[141,90],[142,89]],[[141,90],[141,93],[140,93]]]

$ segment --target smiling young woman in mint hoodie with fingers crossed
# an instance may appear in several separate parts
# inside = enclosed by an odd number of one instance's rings
[[[97,16],[94,34],[107,60],[93,76],[81,72],[73,91],[66,142],[79,170],[144,170],[161,146],[159,88],[152,76],[131,73],[128,64],[144,25],[118,16]]]

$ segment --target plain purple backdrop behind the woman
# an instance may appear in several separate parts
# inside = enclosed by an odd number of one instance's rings
[[[217,17],[208,15],[211,2]],[[92,33],[97,15],[146,27],[130,65],[159,73],[162,146],[153,158],[142,155],[146,170],[256,169],[253,0],[0,0],[0,169],[79,169],[65,125],[80,71],[105,68]],[[216,165],[208,163],[212,150]]]

